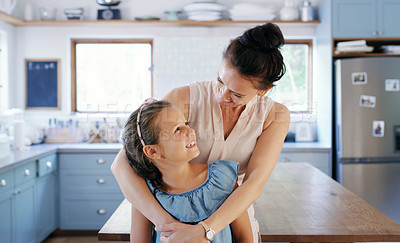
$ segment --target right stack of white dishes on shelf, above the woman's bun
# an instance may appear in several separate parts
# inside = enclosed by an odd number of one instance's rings
[[[254,3],[237,3],[229,9],[233,21],[271,21],[276,18],[273,7],[265,7]]]

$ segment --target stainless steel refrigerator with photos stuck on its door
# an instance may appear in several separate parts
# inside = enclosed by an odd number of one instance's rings
[[[400,223],[400,57],[334,68],[336,179]]]

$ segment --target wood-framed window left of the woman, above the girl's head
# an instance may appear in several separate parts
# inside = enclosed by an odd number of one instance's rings
[[[72,111],[130,113],[152,96],[151,39],[72,39]]]

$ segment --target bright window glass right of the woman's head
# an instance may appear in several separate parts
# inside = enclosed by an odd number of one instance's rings
[[[285,104],[291,112],[308,111],[312,102],[309,87],[309,47],[307,44],[285,44],[282,54],[286,65],[286,74],[276,82],[269,92],[274,100]]]

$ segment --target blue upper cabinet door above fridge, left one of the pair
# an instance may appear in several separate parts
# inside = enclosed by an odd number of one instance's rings
[[[375,0],[334,0],[333,37],[375,37],[377,35]]]

